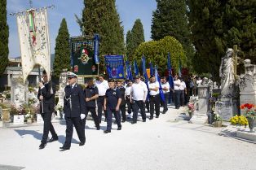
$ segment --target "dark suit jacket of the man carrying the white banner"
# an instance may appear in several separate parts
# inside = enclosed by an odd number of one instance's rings
[[[44,87],[38,90],[38,99],[40,95],[43,96],[40,100],[40,113],[53,113],[55,108],[55,84],[49,81],[44,84]]]

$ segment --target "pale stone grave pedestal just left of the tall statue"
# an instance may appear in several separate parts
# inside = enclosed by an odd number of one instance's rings
[[[206,124],[208,121],[207,111],[209,111],[210,87],[209,84],[198,85],[198,100],[195,103],[195,111],[190,120],[193,124]]]

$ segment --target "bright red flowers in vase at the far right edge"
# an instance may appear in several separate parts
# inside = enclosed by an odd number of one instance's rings
[[[249,132],[254,132],[254,120],[256,118],[256,107],[254,104],[245,103],[240,107],[242,110],[245,110],[245,117],[248,120]]]

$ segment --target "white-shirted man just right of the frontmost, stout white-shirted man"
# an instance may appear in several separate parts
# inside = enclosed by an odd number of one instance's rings
[[[150,77],[150,81],[148,82],[149,89],[149,104],[150,104],[150,118],[153,119],[154,108],[156,110],[156,118],[160,115],[160,94],[159,94],[159,83],[156,81],[155,76]]]

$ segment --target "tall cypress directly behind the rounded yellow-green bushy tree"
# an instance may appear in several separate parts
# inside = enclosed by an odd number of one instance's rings
[[[186,0],[157,0],[157,10],[152,14],[152,39],[160,40],[172,36],[183,46],[188,66],[191,64],[194,49],[190,40]]]

